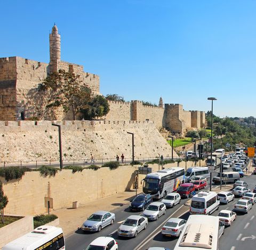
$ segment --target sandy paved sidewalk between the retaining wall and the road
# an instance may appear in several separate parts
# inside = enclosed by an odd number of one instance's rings
[[[142,193],[142,189],[137,190],[137,194]],[[82,223],[94,212],[99,210],[113,211],[120,206],[130,204],[135,196],[134,190],[124,191],[96,201],[87,202],[86,205],[79,206],[78,209],[65,208],[55,210],[51,213],[56,214],[60,219],[59,227],[62,228],[65,237],[70,236],[73,232],[81,227]]]

